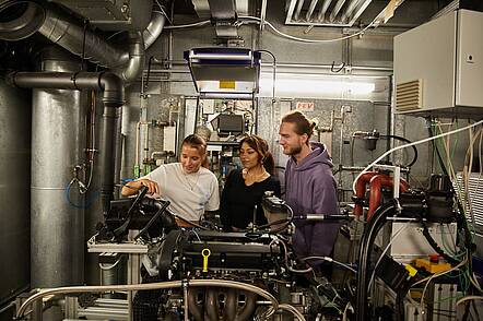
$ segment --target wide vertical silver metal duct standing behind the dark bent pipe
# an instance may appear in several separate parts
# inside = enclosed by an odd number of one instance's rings
[[[42,52],[43,71],[70,72],[80,61],[52,47]],[[33,91],[31,182],[32,287],[82,284],[84,211],[67,201],[66,187],[83,160],[85,108],[81,92]],[[70,193],[72,203],[82,198]]]

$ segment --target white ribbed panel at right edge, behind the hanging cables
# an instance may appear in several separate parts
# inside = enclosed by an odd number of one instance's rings
[[[483,175],[472,173],[468,179],[468,192],[464,191],[462,174],[457,175],[457,187],[463,204],[467,206],[467,218],[473,223],[476,231],[483,231]]]

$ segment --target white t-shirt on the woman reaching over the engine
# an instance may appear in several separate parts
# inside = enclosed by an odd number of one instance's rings
[[[200,167],[197,173],[185,174],[180,163],[157,167],[146,176],[157,182],[160,194],[170,202],[169,210],[188,221],[200,221],[204,211],[220,207],[219,182],[213,173]]]

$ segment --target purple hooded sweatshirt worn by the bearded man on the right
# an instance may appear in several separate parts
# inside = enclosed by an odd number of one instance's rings
[[[286,164],[285,201],[295,216],[339,214],[337,183],[329,153],[320,143],[313,142],[311,147],[313,152],[301,164],[294,157]],[[295,226],[293,246],[298,258],[331,255],[339,223],[297,221]]]

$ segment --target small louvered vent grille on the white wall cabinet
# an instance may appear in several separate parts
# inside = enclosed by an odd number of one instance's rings
[[[423,80],[396,85],[396,110],[408,111],[423,108]]]

